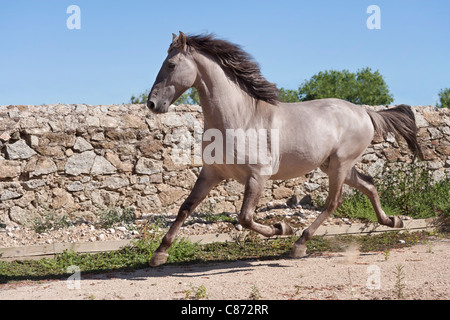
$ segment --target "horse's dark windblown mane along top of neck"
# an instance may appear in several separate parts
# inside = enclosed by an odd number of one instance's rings
[[[212,35],[187,36],[186,44],[214,57],[253,98],[270,104],[277,104],[280,101],[275,84],[268,82],[261,75],[259,65],[238,45],[215,39]]]

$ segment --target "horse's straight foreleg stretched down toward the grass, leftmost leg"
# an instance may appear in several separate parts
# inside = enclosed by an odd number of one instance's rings
[[[178,211],[177,218],[173,222],[167,234],[161,241],[160,246],[153,253],[150,260],[150,266],[156,267],[167,261],[169,254],[167,249],[172,245],[175,240],[175,236],[183,225],[184,221],[189,217],[189,215],[194,211],[197,205],[202,202],[202,200],[208,195],[212,188],[218,185],[222,181],[221,178],[206,173],[205,167],[200,172],[200,175],[195,182],[194,188],[192,189],[189,196],[183,202]]]

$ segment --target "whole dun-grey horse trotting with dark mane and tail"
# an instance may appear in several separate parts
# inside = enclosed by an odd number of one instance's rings
[[[293,230],[284,222],[268,226],[253,220],[265,182],[296,178],[316,168],[328,175],[324,210],[295,241],[292,258],[306,255],[306,242],[342,203],[344,183],[369,197],[380,224],[403,227],[398,216],[385,214],[372,177],[360,173],[355,163],[375,133],[386,136],[393,132],[406,140],[414,156],[421,155],[410,106],[375,112],[334,98],[282,103],[276,85],[262,76],[259,65],[240,46],[211,34],[186,35],[180,31],[179,35],[172,35],[147,107],[154,113],[165,113],[187,89],[197,89],[204,116],[203,166],[175,221],[153,253],[150,266],[167,261],[167,249],[183,222],[225,179],[235,179],[245,186],[239,223],[271,237],[292,235]],[[244,132],[245,145],[233,143],[239,138],[238,131]],[[255,134],[261,139],[253,139]],[[243,149],[248,152],[242,152]],[[265,156],[252,156],[260,151]]]

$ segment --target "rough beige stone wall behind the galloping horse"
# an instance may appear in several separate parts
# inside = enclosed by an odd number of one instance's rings
[[[450,174],[450,110],[415,107],[424,165],[435,180]],[[175,112],[174,112],[175,111]],[[96,220],[108,208],[137,216],[176,213],[201,168],[197,106],[161,115],[143,105],[0,106],[0,222],[29,224],[38,216]],[[372,175],[411,162],[403,142],[375,140],[359,164]],[[326,194],[319,170],[267,182],[259,205]],[[239,211],[243,186],[226,181],[197,211]]]

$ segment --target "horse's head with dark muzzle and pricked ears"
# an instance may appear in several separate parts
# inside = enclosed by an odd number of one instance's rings
[[[197,68],[188,51],[186,35],[181,31],[178,36],[173,34],[167,58],[148,95],[147,106],[153,112],[167,112],[169,106],[193,86]]]

